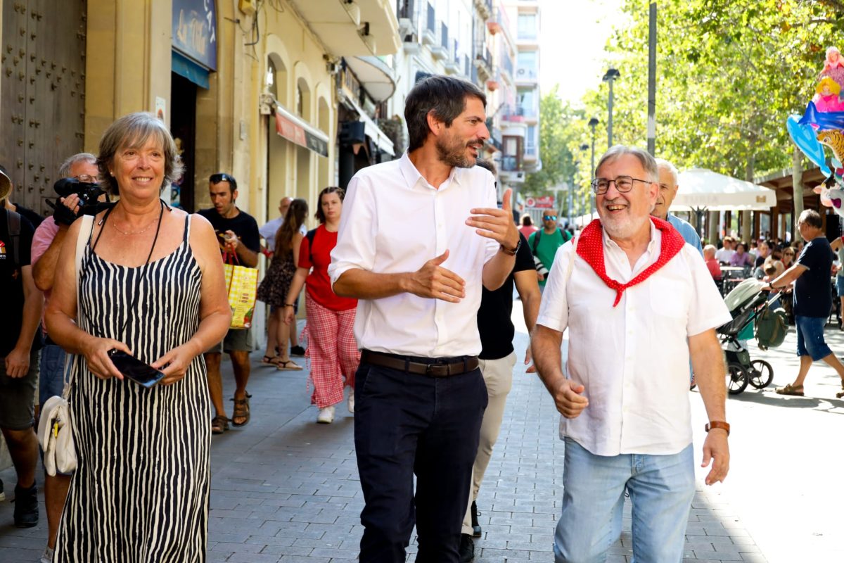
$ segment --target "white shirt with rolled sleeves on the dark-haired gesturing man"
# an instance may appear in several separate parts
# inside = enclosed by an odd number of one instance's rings
[[[478,235],[466,220],[470,209],[495,205],[495,180],[479,166],[452,169],[439,189],[407,154],[354,175],[331,252],[332,284],[351,268],[415,272],[446,250],[442,267],[466,282],[459,303],[409,293],[358,300],[354,338],[360,349],[429,358],[480,353],[482,273],[499,244]]]

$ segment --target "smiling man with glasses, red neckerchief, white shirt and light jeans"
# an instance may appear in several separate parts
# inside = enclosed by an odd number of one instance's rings
[[[648,216],[659,190],[652,156],[617,145],[596,176],[600,219],[577,237],[576,250],[560,248],[532,340],[565,440],[555,561],[606,559],[621,533],[625,489],[636,560],[679,561],[695,494],[689,360],[710,420],[703,465],[714,458],[711,485],[729,467],[714,328],[731,317],[701,255]],[[565,328],[568,378],[560,365]]]

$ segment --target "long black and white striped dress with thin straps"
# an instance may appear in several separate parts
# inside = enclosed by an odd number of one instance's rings
[[[127,343],[152,363],[199,326],[202,273],[188,243],[140,268],[85,247],[80,325]],[[129,311],[139,291],[133,311]],[[124,322],[126,329],[120,333]],[[197,356],[172,385],[101,380],[78,356],[69,403],[78,468],[62,513],[57,563],[204,561],[208,536],[211,410]]]

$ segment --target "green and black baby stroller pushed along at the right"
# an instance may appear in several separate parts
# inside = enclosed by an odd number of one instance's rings
[[[737,395],[748,384],[762,389],[774,379],[774,369],[766,360],[750,360],[749,351],[741,340],[753,336],[753,322],[757,322],[756,338],[761,349],[776,348],[782,344],[787,332],[785,311],[771,311],[768,306],[780,294],[769,295],[762,291],[767,284],[758,279],[745,279],[728,293],[724,305],[733,316],[733,320],[715,329],[721,337],[721,345],[727,356],[727,389],[731,395]]]

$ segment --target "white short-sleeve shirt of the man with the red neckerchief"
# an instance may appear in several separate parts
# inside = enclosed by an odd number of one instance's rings
[[[652,224],[647,252],[630,268],[603,232],[607,275],[630,281],[657,261],[661,244]],[[692,436],[687,338],[732,318],[701,254],[685,244],[615,307],[615,291],[582,257],[574,257],[566,281],[571,255],[571,241],[557,251],[537,320],[569,329],[566,371],[589,399],[575,419],[560,417],[560,437],[600,456],[680,452]]]

